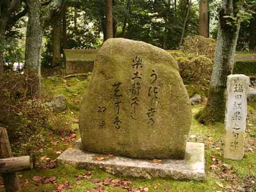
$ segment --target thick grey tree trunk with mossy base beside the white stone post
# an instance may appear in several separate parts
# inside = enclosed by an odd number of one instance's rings
[[[225,18],[224,16],[226,15],[233,15],[233,2],[222,0],[208,101],[200,117],[201,123],[205,124],[223,122],[225,118],[226,81],[233,70],[234,55],[240,30],[240,23],[237,23],[237,26],[227,24],[227,22],[230,22],[230,18]]]

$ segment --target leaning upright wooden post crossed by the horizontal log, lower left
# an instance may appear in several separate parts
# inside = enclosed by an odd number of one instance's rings
[[[13,157],[6,128],[0,127],[0,158]],[[17,173],[2,174],[6,192],[20,192],[21,187]]]

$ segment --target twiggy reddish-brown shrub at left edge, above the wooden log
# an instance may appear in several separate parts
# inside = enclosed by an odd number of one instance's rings
[[[65,125],[64,118],[55,118],[56,122],[51,120],[55,114],[48,103],[43,99],[33,99],[30,91],[33,78],[28,78],[27,72],[21,74],[10,71],[1,74],[0,126],[7,128],[14,152],[30,155],[35,161],[45,147],[46,130],[52,128],[65,131],[63,129],[69,124]]]

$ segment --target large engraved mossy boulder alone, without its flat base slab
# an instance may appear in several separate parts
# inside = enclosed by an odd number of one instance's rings
[[[191,103],[172,56],[142,41],[105,41],[80,110],[84,149],[183,158],[190,126]]]

